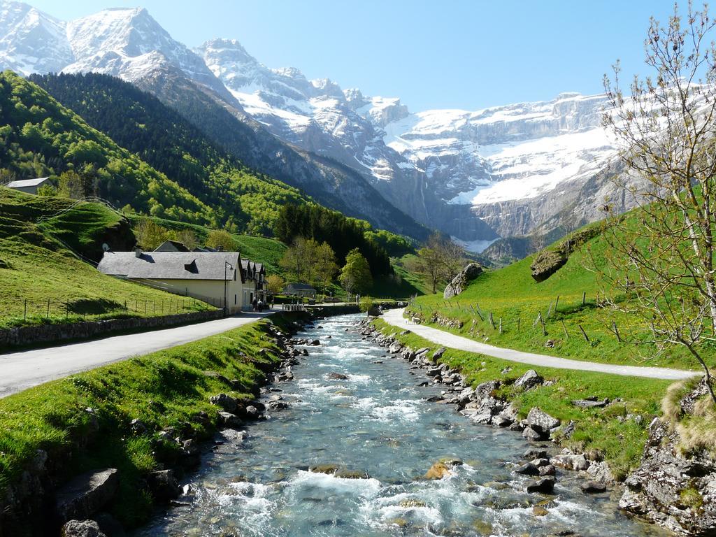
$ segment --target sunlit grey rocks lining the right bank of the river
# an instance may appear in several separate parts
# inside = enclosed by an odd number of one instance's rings
[[[483,382],[477,387],[465,384],[465,378],[459,371],[451,369],[440,359],[446,349],[440,347],[432,350],[430,347],[412,349],[402,344],[397,338],[383,334],[368,321],[363,321],[359,328],[364,339],[369,339],[380,347],[387,349],[393,357],[405,359],[412,364],[412,369],[422,369],[428,377],[420,385],[441,384],[445,387],[442,394],[431,397],[433,402],[444,405],[455,405],[455,410],[465,415],[473,422],[492,427],[505,427],[521,432],[526,440],[531,442],[546,442],[551,440],[552,445],[537,445],[523,455],[523,460],[516,464],[513,473],[530,476],[532,480],[526,484],[529,493],[551,493],[557,479],[556,468],[581,472],[585,481],[581,485],[584,493],[604,493],[607,485],[614,485],[614,478],[609,465],[599,460],[599,454],[589,458],[584,453],[573,453],[570,450],[561,450],[554,444],[557,438],[569,437],[574,431],[574,423],[563,424],[560,420],[548,415],[538,407],[533,407],[523,419],[518,416],[518,410],[510,402],[498,397],[497,392],[502,382],[500,379]],[[409,332],[402,332],[402,335]],[[530,390],[540,384],[544,379],[533,369],[523,374],[514,384],[523,390]]]

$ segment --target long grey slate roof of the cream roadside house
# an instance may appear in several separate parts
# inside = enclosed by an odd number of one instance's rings
[[[233,280],[241,263],[238,252],[105,252],[97,269],[110,276],[158,280]],[[241,271],[239,271],[241,274]],[[242,278],[243,282],[243,278]]]

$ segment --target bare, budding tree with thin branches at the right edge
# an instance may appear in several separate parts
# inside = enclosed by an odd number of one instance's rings
[[[638,314],[633,340],[659,351],[686,347],[705,372],[716,342],[716,64],[710,40],[716,21],[707,9],[679,16],[667,26],[652,18],[645,41],[653,75],[634,77],[624,95],[619,64],[604,77],[611,110],[604,124],[614,132],[627,173],[620,185],[641,208],[639,221],[609,213],[611,251],[601,269],[611,306]],[[654,348],[654,347],[649,347]],[[712,356],[712,354],[711,354]]]

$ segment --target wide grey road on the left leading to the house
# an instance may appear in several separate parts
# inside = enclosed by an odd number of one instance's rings
[[[141,334],[105,337],[59,347],[0,354],[0,397],[67,377],[93,367],[176,347],[258,321],[270,311],[244,313],[214,321],[176,326]]]

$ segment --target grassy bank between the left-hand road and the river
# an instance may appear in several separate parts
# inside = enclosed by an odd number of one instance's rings
[[[126,526],[145,521],[153,500],[143,479],[180,456],[180,446],[160,440],[158,433],[173,427],[182,438],[208,437],[218,418],[209,397],[220,392],[253,397],[263,370],[279,361],[270,324],[285,327],[295,315],[300,314],[276,314],[0,400],[0,502],[32,466],[37,450],[44,450],[57,483],[86,470],[118,468],[120,491],[112,514]],[[144,431],[132,427],[135,419]]]

